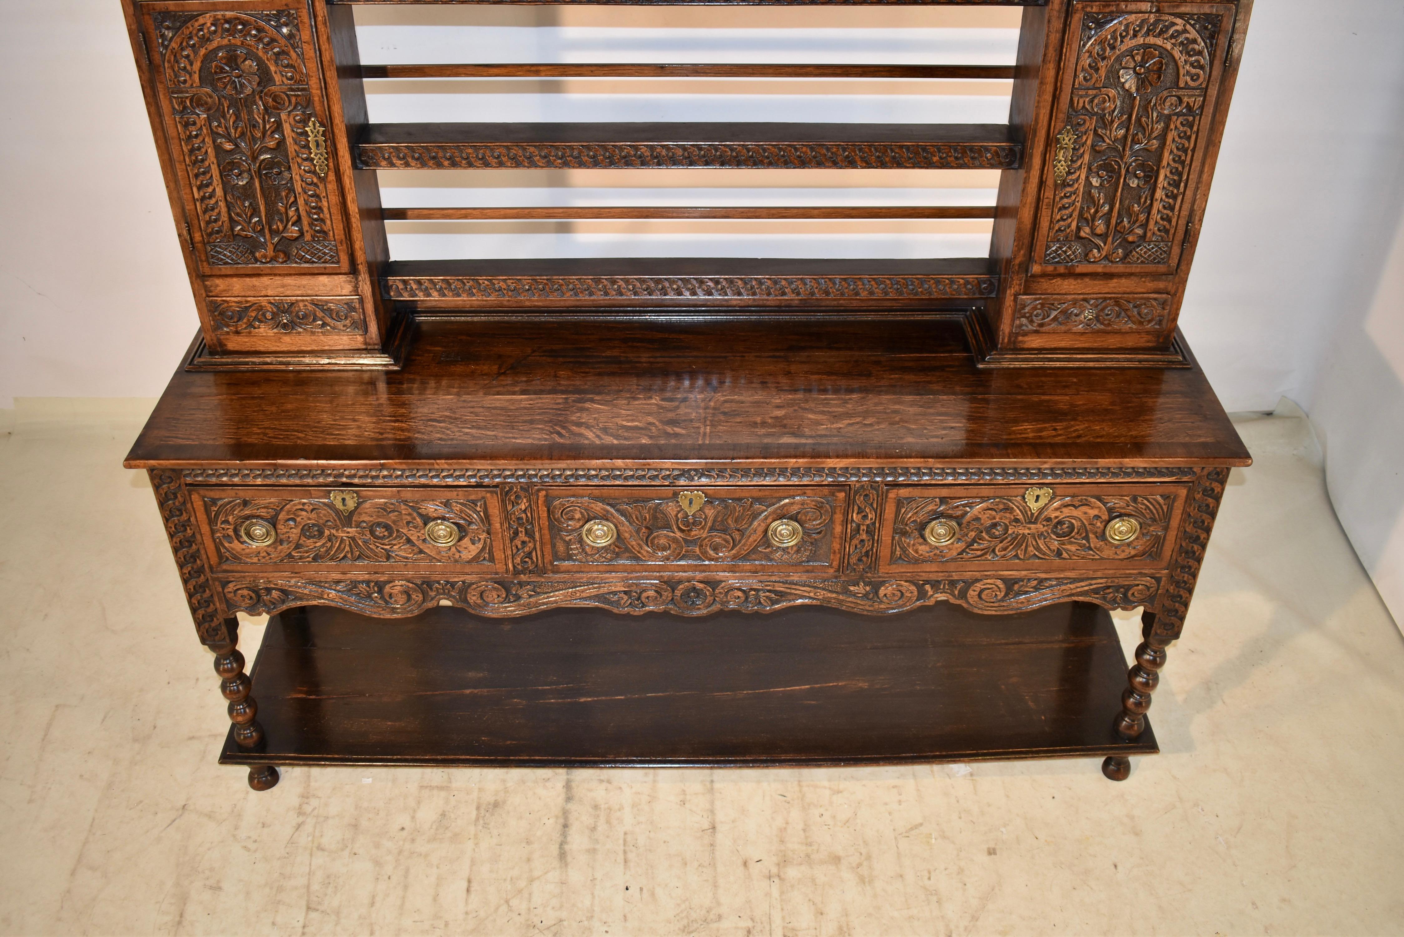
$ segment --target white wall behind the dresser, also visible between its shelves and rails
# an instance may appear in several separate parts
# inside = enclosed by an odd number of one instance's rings
[[[1011,10],[358,8],[371,62],[1007,62]],[[490,32],[452,30],[477,24]],[[545,27],[528,30],[528,25]],[[788,32],[781,27],[802,27]],[[699,27],[685,31],[682,27]],[[1182,315],[1230,410],[1313,414],[1331,493],[1404,618],[1404,4],[1258,0]],[[117,0],[0,3],[0,407],[154,396],[197,329]],[[388,83],[378,119],[1002,119],[1004,83]],[[535,91],[550,94],[534,96]],[[623,93],[622,97],[616,97]],[[983,204],[988,174],[386,174],[388,204]],[[472,187],[484,185],[473,190]],[[545,185],[564,185],[566,194]],[[674,187],[673,191],[667,187]],[[446,233],[445,233],[446,232]],[[400,256],[983,253],[983,222],[402,225]]]

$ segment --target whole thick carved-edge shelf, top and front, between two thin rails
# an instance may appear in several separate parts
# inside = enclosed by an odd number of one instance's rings
[[[1018,169],[1002,124],[371,124],[362,169]]]

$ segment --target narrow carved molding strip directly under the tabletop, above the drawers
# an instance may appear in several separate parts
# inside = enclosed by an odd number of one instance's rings
[[[247,485],[727,485],[762,482],[1088,482],[1193,480],[1186,466],[851,466],[851,468],[192,468],[187,482]],[[504,499],[508,493],[504,492]],[[522,494],[525,497],[525,494]]]

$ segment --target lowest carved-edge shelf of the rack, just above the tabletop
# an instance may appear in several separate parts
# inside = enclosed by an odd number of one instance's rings
[[[425,308],[929,303],[984,299],[998,285],[984,257],[411,260],[390,264],[385,275],[389,299]]]

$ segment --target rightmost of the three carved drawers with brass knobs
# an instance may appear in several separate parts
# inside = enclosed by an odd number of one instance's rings
[[[887,489],[883,570],[1165,569],[1182,485]]]

